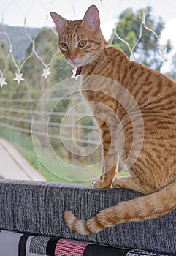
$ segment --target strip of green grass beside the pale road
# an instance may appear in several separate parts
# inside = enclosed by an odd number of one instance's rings
[[[53,155],[50,154],[49,151],[42,148],[41,144],[38,142],[38,148],[37,151],[41,151],[43,156],[45,157],[45,161],[47,161],[48,165],[50,165],[51,170],[56,169],[58,170],[58,175],[55,175],[51,173],[49,170],[45,168],[44,165],[42,165],[42,162],[40,162],[39,158],[37,157],[36,152],[34,151],[34,146],[31,140],[31,136],[26,136],[21,134],[20,132],[15,132],[12,129],[0,129],[0,136],[5,138],[6,140],[9,140],[10,143],[12,143],[15,148],[20,151],[21,154],[23,154],[23,157],[25,157],[28,162],[31,162],[31,165],[33,165],[39,172],[47,179],[47,181],[57,181],[62,183],[77,183],[77,184],[90,184],[90,180],[88,180],[89,173],[83,173],[82,177],[80,177],[80,174],[77,173],[71,173],[66,178],[66,167],[60,164],[58,165],[58,161],[56,162],[56,159],[53,159]],[[91,172],[91,170],[90,170]],[[93,172],[99,173],[98,169],[93,169]],[[67,172],[68,173],[68,172]],[[122,173],[123,174],[123,173]],[[65,177],[65,178],[61,178]],[[85,181],[80,181],[81,179],[85,179]],[[87,178],[87,181],[86,181]]]

